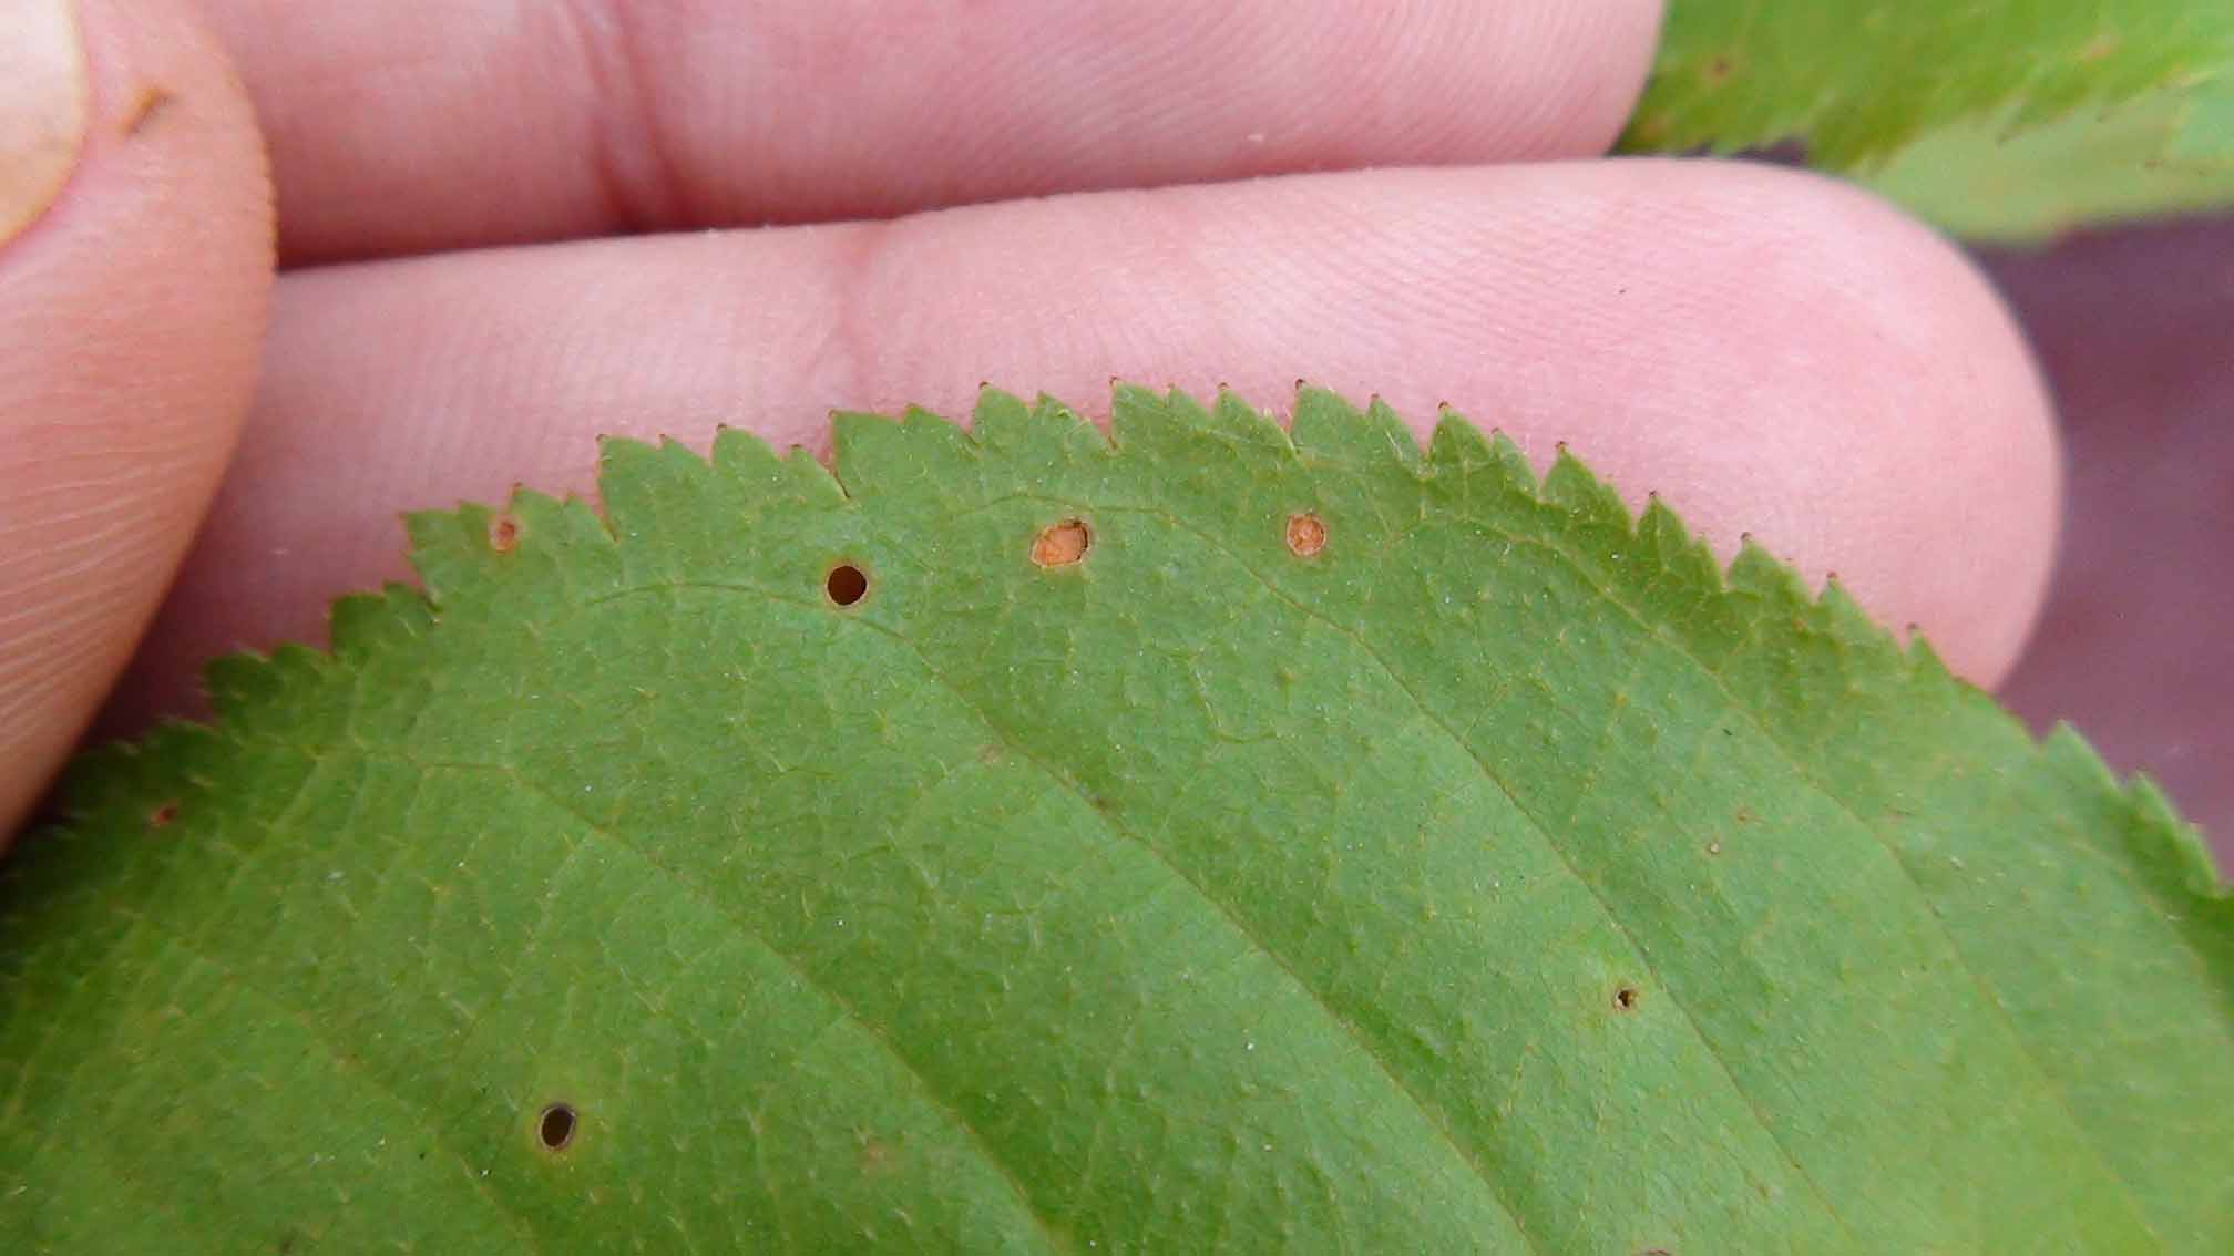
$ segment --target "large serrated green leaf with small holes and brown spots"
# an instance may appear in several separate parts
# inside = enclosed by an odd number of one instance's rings
[[[2196,834],[1573,458],[987,393],[603,503],[80,764],[4,1249],[2234,1249]]]

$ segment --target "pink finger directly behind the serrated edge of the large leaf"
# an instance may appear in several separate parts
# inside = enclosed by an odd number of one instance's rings
[[[594,299],[583,299],[594,293]],[[2015,326],[1957,250],[1832,181],[1731,163],[1361,172],[894,223],[299,273],[255,436],[139,670],[317,637],[402,574],[395,512],[590,489],[599,434],[820,447],[831,405],[965,413],[981,380],[1273,405],[1309,378],[1436,402],[1658,489],[1921,624],[1993,682],[2053,552],[2058,456]]]

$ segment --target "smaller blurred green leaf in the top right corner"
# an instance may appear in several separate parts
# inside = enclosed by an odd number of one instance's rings
[[[1975,237],[2234,203],[2234,4],[1671,0],[1624,145],[1783,141]]]

